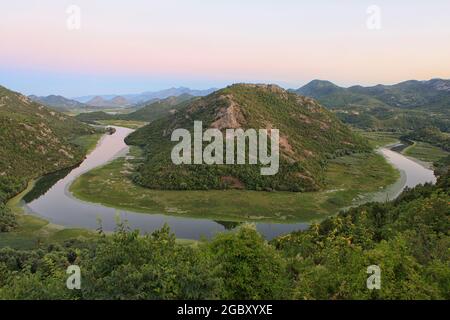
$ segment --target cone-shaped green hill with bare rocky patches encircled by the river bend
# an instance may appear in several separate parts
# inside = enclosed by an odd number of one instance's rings
[[[279,129],[280,169],[262,176],[260,165],[174,165],[171,133],[177,128]],[[327,159],[368,151],[366,141],[317,101],[276,85],[236,84],[191,101],[178,112],[131,134],[126,142],[146,156],[135,182],[155,189],[317,190]]]

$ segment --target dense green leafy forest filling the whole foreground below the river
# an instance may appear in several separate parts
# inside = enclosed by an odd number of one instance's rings
[[[450,174],[393,202],[265,241],[251,226],[196,245],[121,224],[96,241],[0,250],[1,299],[450,299]],[[66,268],[81,268],[80,290]],[[366,287],[367,267],[381,289]]]

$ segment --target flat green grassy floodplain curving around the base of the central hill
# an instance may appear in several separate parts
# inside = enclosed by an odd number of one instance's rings
[[[398,172],[376,153],[354,154],[331,161],[329,188],[320,192],[243,190],[164,191],[135,185],[132,163],[117,159],[78,178],[70,191],[81,200],[142,213],[227,221],[315,221],[352,204],[358,195],[394,183]]]

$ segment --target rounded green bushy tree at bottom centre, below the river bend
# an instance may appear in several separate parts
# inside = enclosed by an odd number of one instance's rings
[[[290,296],[287,263],[249,226],[222,233],[207,245],[223,281],[222,299],[283,299]]]

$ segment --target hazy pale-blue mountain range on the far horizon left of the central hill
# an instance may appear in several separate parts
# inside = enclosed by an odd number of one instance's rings
[[[106,104],[108,106],[114,107],[116,103],[114,103],[113,100],[116,100],[115,102],[117,102],[117,99],[120,99],[120,103],[124,105],[133,105],[133,104],[148,103],[160,99],[166,99],[169,97],[177,97],[183,94],[188,94],[195,97],[203,97],[216,90],[217,90],[216,88],[210,88],[206,90],[193,90],[185,87],[179,87],[160,91],[147,91],[139,94],[96,95],[96,96],[76,97],[73,99],[78,102],[86,103],[93,106],[98,106],[99,104],[105,106]],[[103,99],[103,101],[100,100],[100,98]]]

